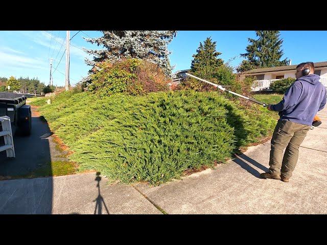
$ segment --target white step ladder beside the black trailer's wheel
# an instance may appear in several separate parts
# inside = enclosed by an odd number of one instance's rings
[[[2,125],[2,131],[0,131],[0,137],[4,136],[5,145],[0,146],[0,152],[6,151],[7,157],[15,157],[14,141],[12,138],[11,122],[9,116],[1,116],[0,122]]]

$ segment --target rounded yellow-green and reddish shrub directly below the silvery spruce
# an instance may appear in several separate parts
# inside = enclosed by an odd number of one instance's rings
[[[123,59],[116,63],[99,62],[83,88],[102,95],[143,94],[166,91],[170,80],[158,65],[146,60]]]

